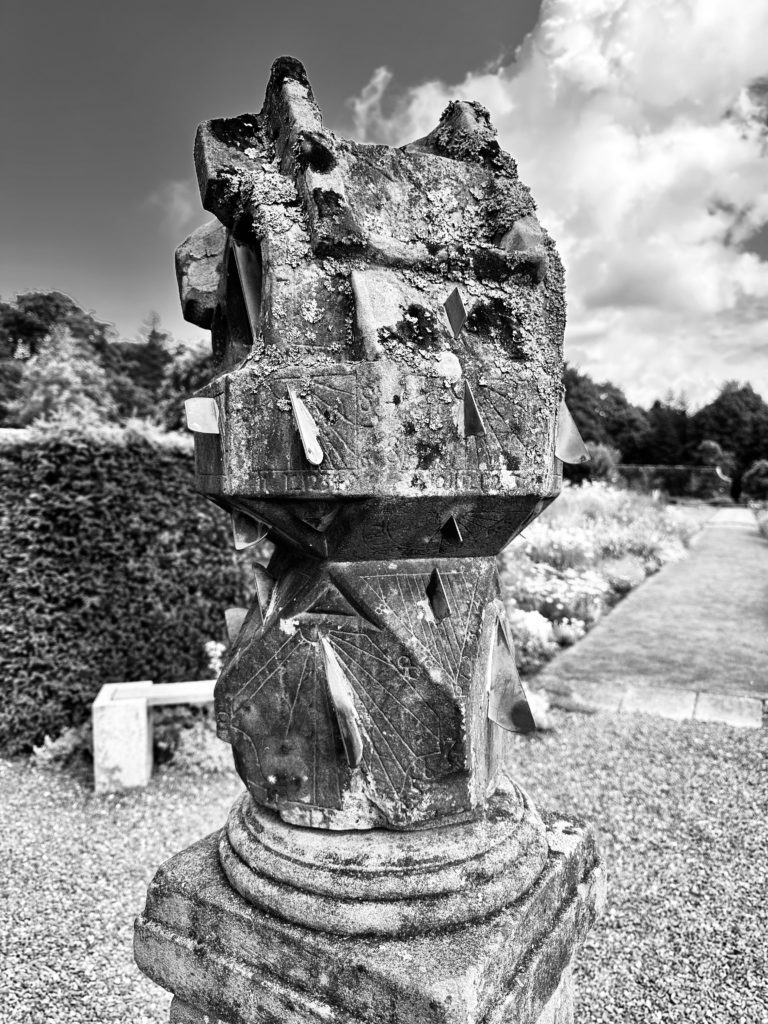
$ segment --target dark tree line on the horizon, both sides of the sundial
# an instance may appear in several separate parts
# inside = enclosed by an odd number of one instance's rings
[[[214,372],[207,347],[174,340],[155,315],[139,339],[126,341],[61,292],[0,301],[0,427],[139,418],[182,429],[184,398]],[[727,381],[691,412],[674,395],[635,406],[621,387],[573,367],[564,383],[595,467],[718,466],[737,492],[748,469],[768,459],[768,404],[750,384]]]

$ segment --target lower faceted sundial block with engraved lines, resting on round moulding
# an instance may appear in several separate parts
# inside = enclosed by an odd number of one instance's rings
[[[505,737],[487,718],[503,613],[496,564],[440,562],[450,609],[440,621],[433,564],[297,558],[266,608],[252,608],[216,709],[257,803],[334,828],[415,826],[482,806]],[[356,709],[358,767],[329,693],[328,648]]]

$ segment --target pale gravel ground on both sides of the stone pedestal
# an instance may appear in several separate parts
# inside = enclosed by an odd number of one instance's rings
[[[555,721],[516,738],[512,774],[602,836],[608,908],[580,957],[577,1020],[768,1022],[768,731]],[[168,996],[132,964],[132,919],[155,867],[217,827],[239,790],[168,771],[108,799],[0,762],[0,1021],[167,1024]]]

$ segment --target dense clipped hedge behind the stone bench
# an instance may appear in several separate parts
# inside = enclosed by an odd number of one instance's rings
[[[0,430],[0,750],[82,722],[102,683],[208,674],[245,599],[182,435]]]

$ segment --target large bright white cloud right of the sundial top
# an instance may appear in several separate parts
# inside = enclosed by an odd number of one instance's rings
[[[768,398],[765,0],[544,0],[513,63],[351,100],[365,140],[401,143],[453,98],[490,111],[562,253],[566,357],[648,401],[727,378]]]

